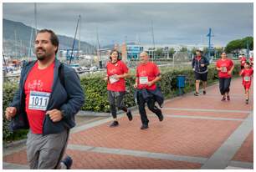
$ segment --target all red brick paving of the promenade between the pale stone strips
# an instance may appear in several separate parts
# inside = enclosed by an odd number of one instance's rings
[[[253,93],[253,90],[251,91]],[[185,95],[181,99],[166,102],[164,107],[192,109],[252,110],[253,94],[250,104],[244,104],[241,79],[232,81],[230,102],[221,102],[218,86],[207,89],[206,96]],[[241,97],[239,96],[241,94]],[[166,114],[207,116],[244,119],[244,113],[196,112],[163,109]],[[119,119],[120,126],[110,128],[101,124],[91,129],[71,134],[69,144],[90,145],[114,149],[132,149],[156,153],[189,155],[209,158],[228,136],[238,128],[241,121],[211,119],[183,119],[166,117],[159,122],[150,116],[149,129],[141,130],[141,120],[137,114],[133,121],[126,117]],[[201,164],[172,160],[149,159],[131,155],[104,154],[90,151],[68,149],[74,157],[74,169],[199,169]],[[253,162],[253,132],[244,141],[233,160]],[[21,150],[3,157],[4,162],[27,164],[26,152]]]

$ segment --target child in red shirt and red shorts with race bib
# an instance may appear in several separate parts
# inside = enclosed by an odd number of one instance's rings
[[[246,62],[244,64],[244,68],[240,73],[240,76],[243,77],[243,87],[245,90],[245,95],[246,95],[246,99],[245,99],[245,103],[248,104],[248,98],[249,98],[249,89],[251,87],[251,83],[252,83],[252,75],[253,75],[253,68],[251,68],[250,66],[250,62]]]

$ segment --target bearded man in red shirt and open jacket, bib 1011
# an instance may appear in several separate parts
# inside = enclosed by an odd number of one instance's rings
[[[23,66],[18,92],[5,111],[13,128],[28,129],[30,169],[70,169],[72,159],[61,161],[73,128],[74,115],[84,104],[84,92],[73,68],[56,59],[59,39],[41,30],[35,40],[37,60]]]

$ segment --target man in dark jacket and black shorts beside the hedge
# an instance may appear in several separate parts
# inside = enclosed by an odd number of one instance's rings
[[[202,93],[206,94],[206,86],[207,86],[207,66],[209,62],[207,58],[203,57],[202,52],[197,49],[196,57],[192,59],[192,68],[195,73],[196,78],[196,93],[195,96],[199,95],[199,85],[200,81],[202,81]]]

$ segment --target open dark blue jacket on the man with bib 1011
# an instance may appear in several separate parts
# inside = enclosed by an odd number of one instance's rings
[[[24,84],[28,77],[29,71],[33,68],[36,61],[24,64],[19,89],[14,94],[13,102],[10,104],[16,107],[17,114],[11,121],[13,129],[29,129],[28,118],[25,110],[25,94]],[[46,110],[59,109],[63,112],[64,118],[59,122],[53,122],[49,115],[45,115],[43,124],[43,134],[57,134],[64,129],[71,129],[74,127],[74,115],[78,113],[79,109],[84,104],[84,91],[81,88],[80,80],[73,68],[66,64],[63,65],[64,85],[59,79],[59,60],[55,60],[54,65],[54,83],[52,86],[52,93],[49,97],[49,104]],[[13,125],[13,126],[12,126]]]

